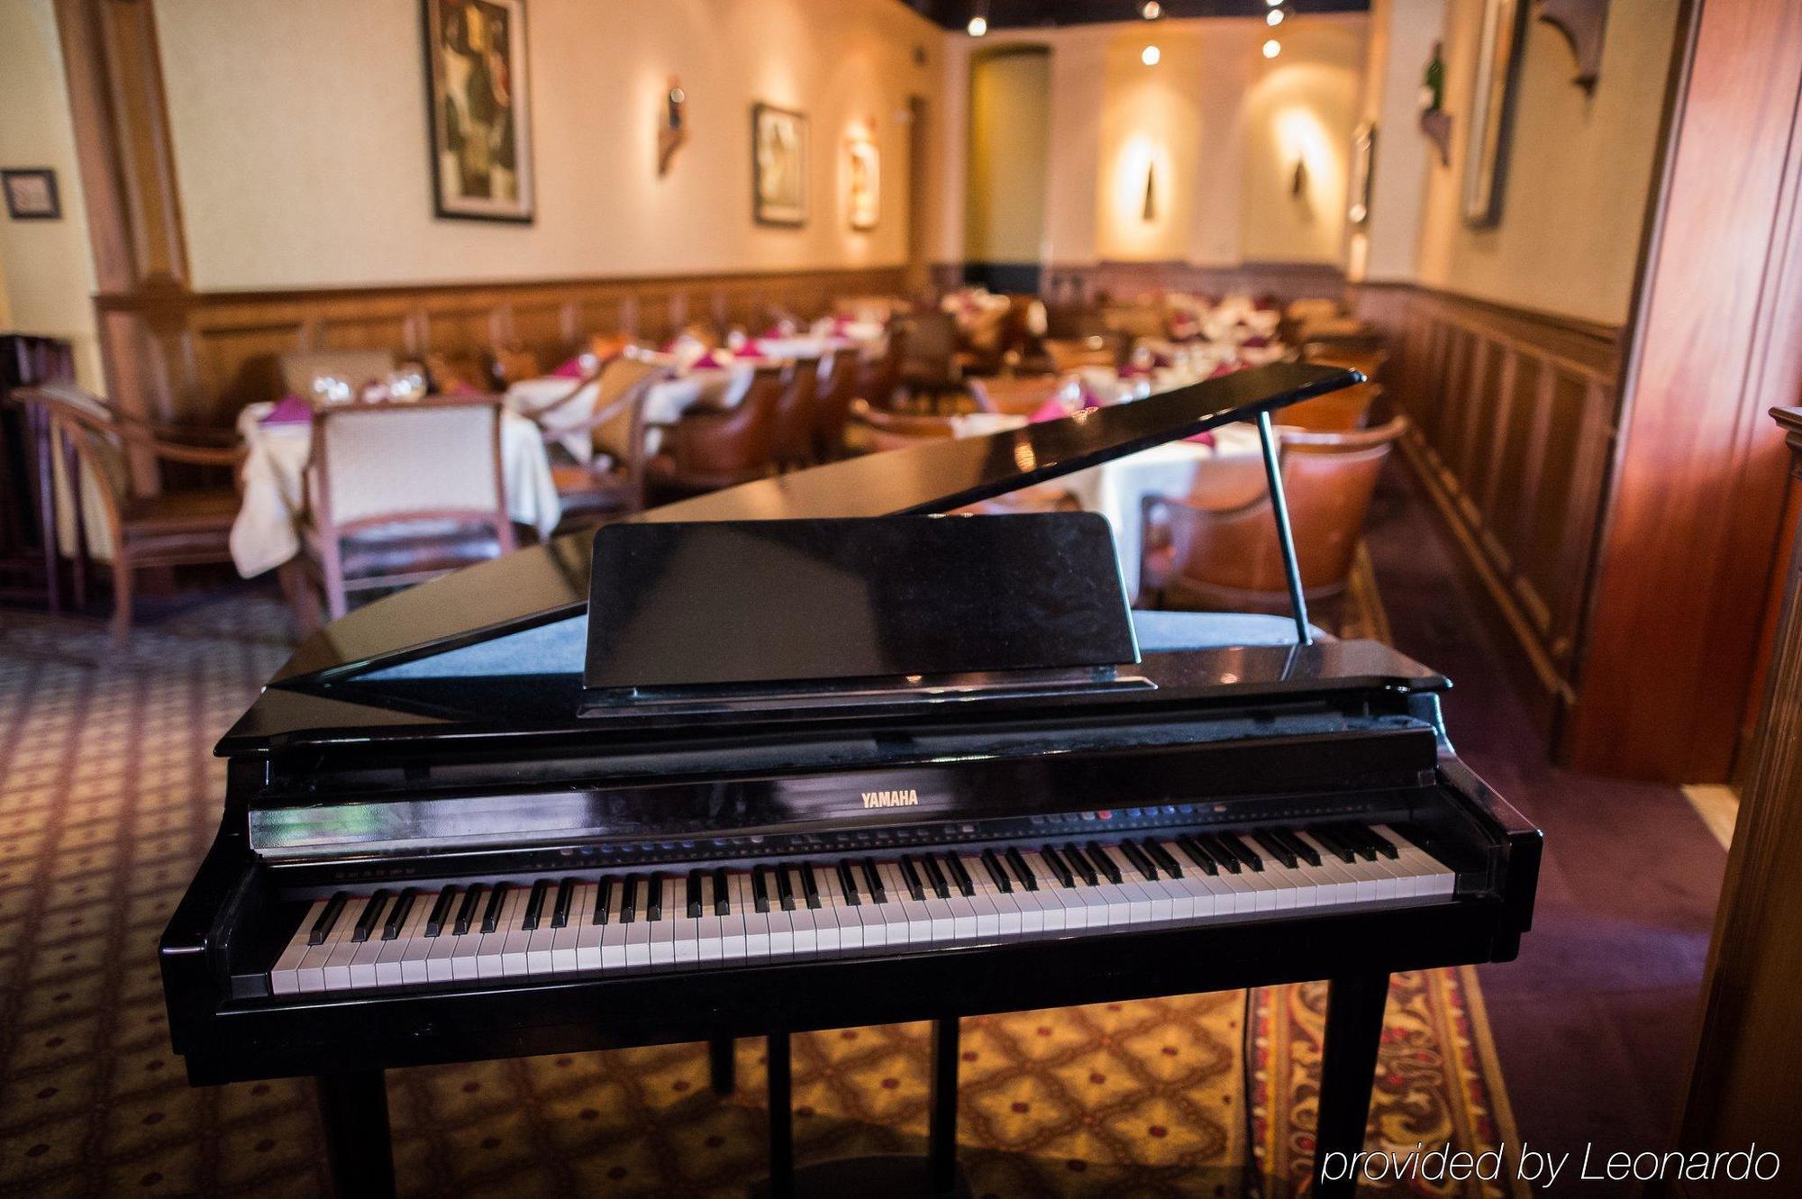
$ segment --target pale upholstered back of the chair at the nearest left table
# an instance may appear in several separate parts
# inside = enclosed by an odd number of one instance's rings
[[[326,536],[405,520],[492,524],[512,547],[496,400],[314,412],[310,509]]]

